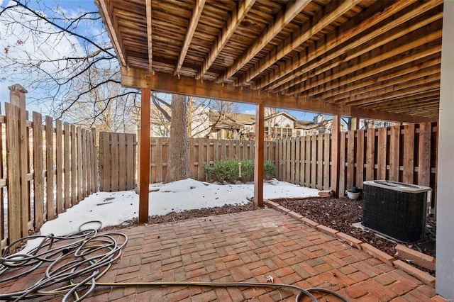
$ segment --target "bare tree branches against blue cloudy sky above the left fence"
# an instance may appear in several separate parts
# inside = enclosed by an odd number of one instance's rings
[[[138,91],[121,87],[118,60],[98,11],[4,1],[0,41],[0,78],[28,87],[28,101],[81,125],[98,126],[110,115],[129,127],[128,116],[109,111],[133,107]]]

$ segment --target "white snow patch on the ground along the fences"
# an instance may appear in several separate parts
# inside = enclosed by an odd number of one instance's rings
[[[309,189],[285,181],[266,181],[264,198],[291,198],[318,196],[319,190]],[[209,184],[194,179],[174,181],[169,184],[150,185],[149,215],[165,215],[172,211],[196,208],[212,208],[225,204],[248,203],[254,195],[253,184]],[[46,222],[40,235],[70,235],[89,228],[118,225],[138,217],[139,196],[135,191],[97,192],[77,205],[61,213],[58,218]],[[33,243],[35,242],[35,243]],[[26,250],[38,245],[40,239],[29,240]],[[24,250],[22,252],[25,252]]]

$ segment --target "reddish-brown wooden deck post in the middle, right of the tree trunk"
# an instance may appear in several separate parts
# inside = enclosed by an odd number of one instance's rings
[[[254,202],[263,207],[263,163],[265,145],[265,104],[258,104],[255,111],[254,147]]]

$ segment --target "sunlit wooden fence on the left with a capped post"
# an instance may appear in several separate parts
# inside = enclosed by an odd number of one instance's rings
[[[95,131],[50,116],[43,125],[36,112],[28,121],[24,91],[0,112],[2,249],[97,191]]]

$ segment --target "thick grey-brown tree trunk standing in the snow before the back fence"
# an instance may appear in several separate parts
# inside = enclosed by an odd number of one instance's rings
[[[185,96],[172,94],[169,160],[165,183],[189,178],[189,150],[187,138],[187,104]]]

